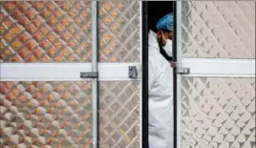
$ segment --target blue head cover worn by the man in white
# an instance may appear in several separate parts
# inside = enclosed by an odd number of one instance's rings
[[[173,14],[168,13],[160,18],[159,22],[157,23],[156,28],[158,30],[167,30],[173,31]]]

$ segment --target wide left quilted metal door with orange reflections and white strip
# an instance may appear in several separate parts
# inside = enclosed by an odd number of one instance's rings
[[[0,9],[1,147],[139,147],[140,2]]]

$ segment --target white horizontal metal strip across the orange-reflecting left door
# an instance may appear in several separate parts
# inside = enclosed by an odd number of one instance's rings
[[[98,63],[98,80],[131,80],[129,66],[139,63]],[[81,72],[92,72],[91,63],[1,63],[1,81],[76,81]],[[139,80],[139,78],[137,80]]]

